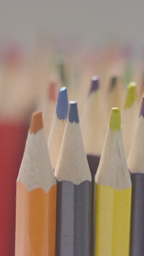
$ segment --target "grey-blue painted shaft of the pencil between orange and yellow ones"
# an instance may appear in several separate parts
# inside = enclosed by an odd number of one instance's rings
[[[57,183],[57,256],[89,256],[91,182]]]

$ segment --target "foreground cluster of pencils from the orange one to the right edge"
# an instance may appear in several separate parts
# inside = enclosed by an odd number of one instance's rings
[[[135,101],[130,83],[122,114],[126,137]],[[103,149],[99,123],[107,119],[98,77],[92,78],[81,127],[66,88],[59,90],[48,141],[43,113],[33,114],[16,182],[15,256],[144,255],[144,100],[127,146],[120,109],[111,107]]]

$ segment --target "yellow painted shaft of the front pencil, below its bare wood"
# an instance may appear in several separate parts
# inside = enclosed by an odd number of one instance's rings
[[[95,183],[94,256],[129,256],[131,188],[116,191]]]

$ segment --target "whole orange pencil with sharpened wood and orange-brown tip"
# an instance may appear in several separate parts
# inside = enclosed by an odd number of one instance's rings
[[[16,183],[15,256],[55,256],[56,191],[42,113],[36,112]]]

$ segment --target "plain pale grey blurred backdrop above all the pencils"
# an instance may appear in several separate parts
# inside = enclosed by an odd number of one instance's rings
[[[29,49],[38,36],[99,45],[116,38],[143,51],[143,0],[1,1],[1,43]]]

